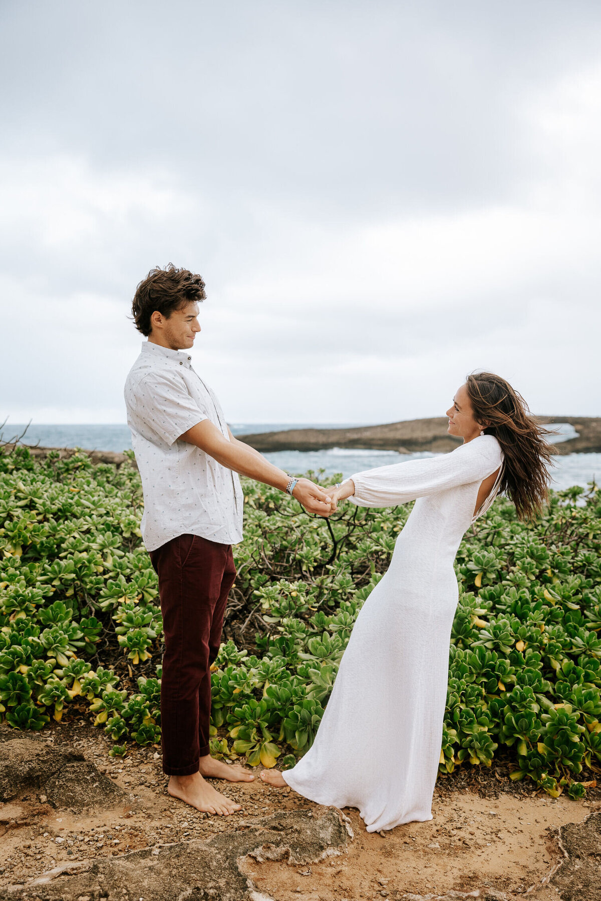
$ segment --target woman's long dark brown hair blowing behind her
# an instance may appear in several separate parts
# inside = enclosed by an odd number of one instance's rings
[[[520,519],[533,519],[549,496],[551,445],[544,436],[551,432],[536,422],[505,378],[478,372],[466,378],[466,387],[476,422],[495,436],[505,455],[499,490],[512,499]]]

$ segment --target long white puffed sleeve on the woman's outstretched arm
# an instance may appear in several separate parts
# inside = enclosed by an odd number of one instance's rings
[[[459,485],[481,482],[501,466],[501,449],[492,435],[482,435],[451,453],[392,466],[366,469],[351,476],[359,506],[395,506]]]

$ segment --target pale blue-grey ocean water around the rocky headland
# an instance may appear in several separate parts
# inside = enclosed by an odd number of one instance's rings
[[[258,432],[281,432],[285,429],[303,428],[352,428],[366,423],[232,423],[234,435]],[[25,426],[19,424],[5,425],[2,438],[9,441],[14,435],[23,432]],[[568,423],[553,425],[559,434],[551,441],[567,441],[575,437],[573,426]],[[124,451],[132,447],[130,430],[120,423],[111,425],[30,425],[23,437],[23,443],[40,444],[42,447],[80,447],[89,451]],[[418,457],[433,457],[431,453],[400,454],[397,451],[366,451],[351,448],[331,448],[328,451],[276,451],[266,453],[268,460],[291,473],[302,473],[313,470],[316,475],[324,476],[341,473],[348,478],[362,469],[376,466],[387,466],[401,460],[414,460]],[[551,471],[551,487],[568,488],[572,485],[587,487],[592,479],[601,478],[601,453],[571,453],[554,458],[555,466]]]

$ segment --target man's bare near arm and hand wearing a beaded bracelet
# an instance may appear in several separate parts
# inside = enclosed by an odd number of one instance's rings
[[[239,472],[241,476],[249,476],[265,485],[272,485],[281,491],[286,491],[289,477],[283,469],[273,466],[259,451],[250,448],[243,441],[236,441],[235,438],[233,441],[228,441],[208,419],[204,419],[202,423],[196,423],[187,432],[181,434],[179,441],[196,444],[196,447],[205,451],[222,466]],[[323,491],[323,488],[310,482],[308,478],[299,478],[293,495],[309,513],[327,516],[331,512],[330,496]]]

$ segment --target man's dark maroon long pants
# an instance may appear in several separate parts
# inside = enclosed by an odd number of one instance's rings
[[[210,669],[236,576],[232,545],[178,535],[150,551],[150,560],[159,576],[165,631],[160,685],[163,770],[189,776],[209,752]]]

